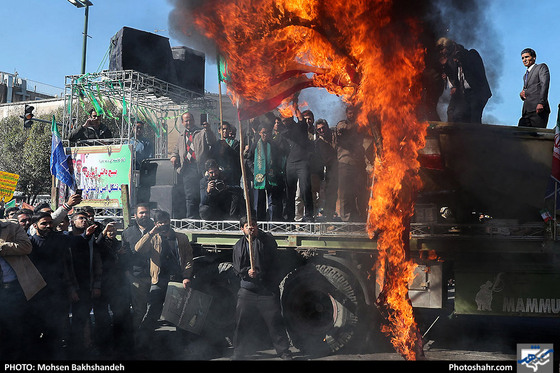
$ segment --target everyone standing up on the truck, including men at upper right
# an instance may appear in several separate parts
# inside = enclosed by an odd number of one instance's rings
[[[521,54],[527,72],[518,125],[546,128],[548,67],[536,64],[536,52],[530,48]],[[437,106],[447,89],[447,121],[481,123],[492,92],[480,54],[441,38],[433,55],[425,70],[427,93],[419,118],[441,121]],[[272,113],[253,119],[249,133],[243,134],[248,206],[260,221],[365,221],[374,148],[379,143],[375,124],[371,131],[358,126],[352,106],[347,107],[346,118],[332,128],[325,119],[315,120],[311,110],[300,112],[297,102],[294,111],[295,120]],[[177,139],[171,162],[183,182],[186,217],[237,219],[246,205],[235,128],[223,122],[218,140],[208,126],[196,126],[188,112],[183,114],[182,124],[184,132]]]

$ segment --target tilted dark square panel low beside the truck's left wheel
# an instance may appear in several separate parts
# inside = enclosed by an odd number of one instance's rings
[[[210,295],[185,289],[180,282],[169,282],[161,316],[178,328],[200,334],[211,303]]]

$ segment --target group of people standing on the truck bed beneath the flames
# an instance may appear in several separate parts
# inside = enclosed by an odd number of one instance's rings
[[[296,120],[269,113],[250,121],[242,157],[230,123],[216,136],[196,126],[191,113],[182,115],[184,132],[170,160],[182,181],[186,218],[237,220],[248,205],[259,221],[366,220],[372,141],[358,127],[355,108],[330,128],[311,110],[294,107]]]

